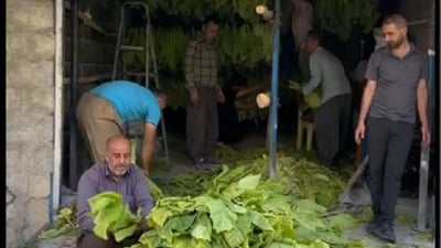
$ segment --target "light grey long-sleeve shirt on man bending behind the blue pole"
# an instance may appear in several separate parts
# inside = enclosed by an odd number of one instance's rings
[[[352,94],[349,80],[346,77],[340,60],[329,51],[319,46],[310,56],[311,79],[302,88],[304,95],[321,87],[321,104],[334,96]]]

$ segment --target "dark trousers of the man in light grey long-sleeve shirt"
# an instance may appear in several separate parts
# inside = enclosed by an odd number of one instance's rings
[[[315,144],[325,164],[335,162],[351,133],[351,94],[335,96],[320,106],[316,114]]]

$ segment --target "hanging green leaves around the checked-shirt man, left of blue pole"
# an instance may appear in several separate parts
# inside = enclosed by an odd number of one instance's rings
[[[272,26],[256,14],[257,4],[271,6],[271,0],[144,0],[150,17],[179,19],[175,26],[154,25],[152,42],[157,55],[162,90],[168,95],[168,107],[178,109],[185,106],[185,79],[183,78],[186,44],[194,39],[194,30],[183,26],[201,23],[207,15],[223,20],[214,46],[224,68],[258,72],[260,66],[270,66],[272,47]],[[166,20],[170,21],[170,20]],[[183,24],[184,23],[184,24]],[[143,45],[146,35],[142,29],[131,29],[126,33],[126,43]],[[137,53],[125,53],[123,62],[131,69],[142,69],[146,57]],[[252,76],[251,76],[252,77]],[[240,112],[239,112],[240,114]],[[241,114],[245,114],[244,111]],[[239,119],[262,118],[261,112],[248,111]]]

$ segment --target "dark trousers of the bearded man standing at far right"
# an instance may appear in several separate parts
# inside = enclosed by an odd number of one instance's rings
[[[415,125],[369,117],[367,184],[376,218],[392,224]]]

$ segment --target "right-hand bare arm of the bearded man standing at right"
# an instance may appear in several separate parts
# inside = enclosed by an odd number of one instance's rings
[[[422,144],[428,145],[430,143],[430,131],[429,131],[429,120],[428,120],[428,87],[426,79],[420,79],[418,82],[417,108],[421,123],[421,134],[422,134],[421,141]]]

